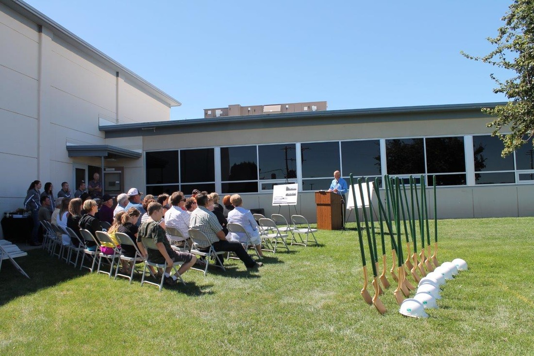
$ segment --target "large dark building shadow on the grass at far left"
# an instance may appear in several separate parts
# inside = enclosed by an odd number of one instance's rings
[[[67,266],[65,261],[52,258],[43,250],[28,251],[28,256],[17,258],[15,261],[25,270],[30,279],[20,274],[9,260],[3,261],[0,271],[0,285],[2,286],[0,306],[9,303],[12,299],[87,274],[87,269],[81,271],[80,267]]]

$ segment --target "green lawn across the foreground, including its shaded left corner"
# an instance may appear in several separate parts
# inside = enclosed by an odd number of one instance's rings
[[[469,270],[428,319],[400,315],[393,288],[385,315],[365,304],[354,224],[320,231],[318,247],[268,252],[258,272],[230,260],[161,293],[34,250],[18,259],[31,280],[6,261],[0,271],[0,354],[532,354],[533,223],[440,220],[439,261]]]

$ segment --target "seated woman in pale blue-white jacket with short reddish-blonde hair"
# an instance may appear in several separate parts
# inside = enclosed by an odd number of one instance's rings
[[[263,257],[262,253],[262,239],[260,237],[260,230],[254,216],[250,210],[246,210],[243,205],[243,200],[239,194],[234,194],[230,197],[230,202],[234,206],[234,210],[228,213],[228,222],[237,223],[245,228],[250,236],[250,242],[256,247],[258,254]],[[238,241],[242,244],[248,244],[247,236],[244,233],[231,233],[231,241]]]

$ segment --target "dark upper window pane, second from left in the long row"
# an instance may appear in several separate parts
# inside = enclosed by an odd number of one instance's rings
[[[215,181],[214,149],[180,151],[182,183]]]

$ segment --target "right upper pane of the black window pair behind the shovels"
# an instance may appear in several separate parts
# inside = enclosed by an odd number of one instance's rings
[[[426,149],[428,173],[466,171],[464,137],[427,138]]]

